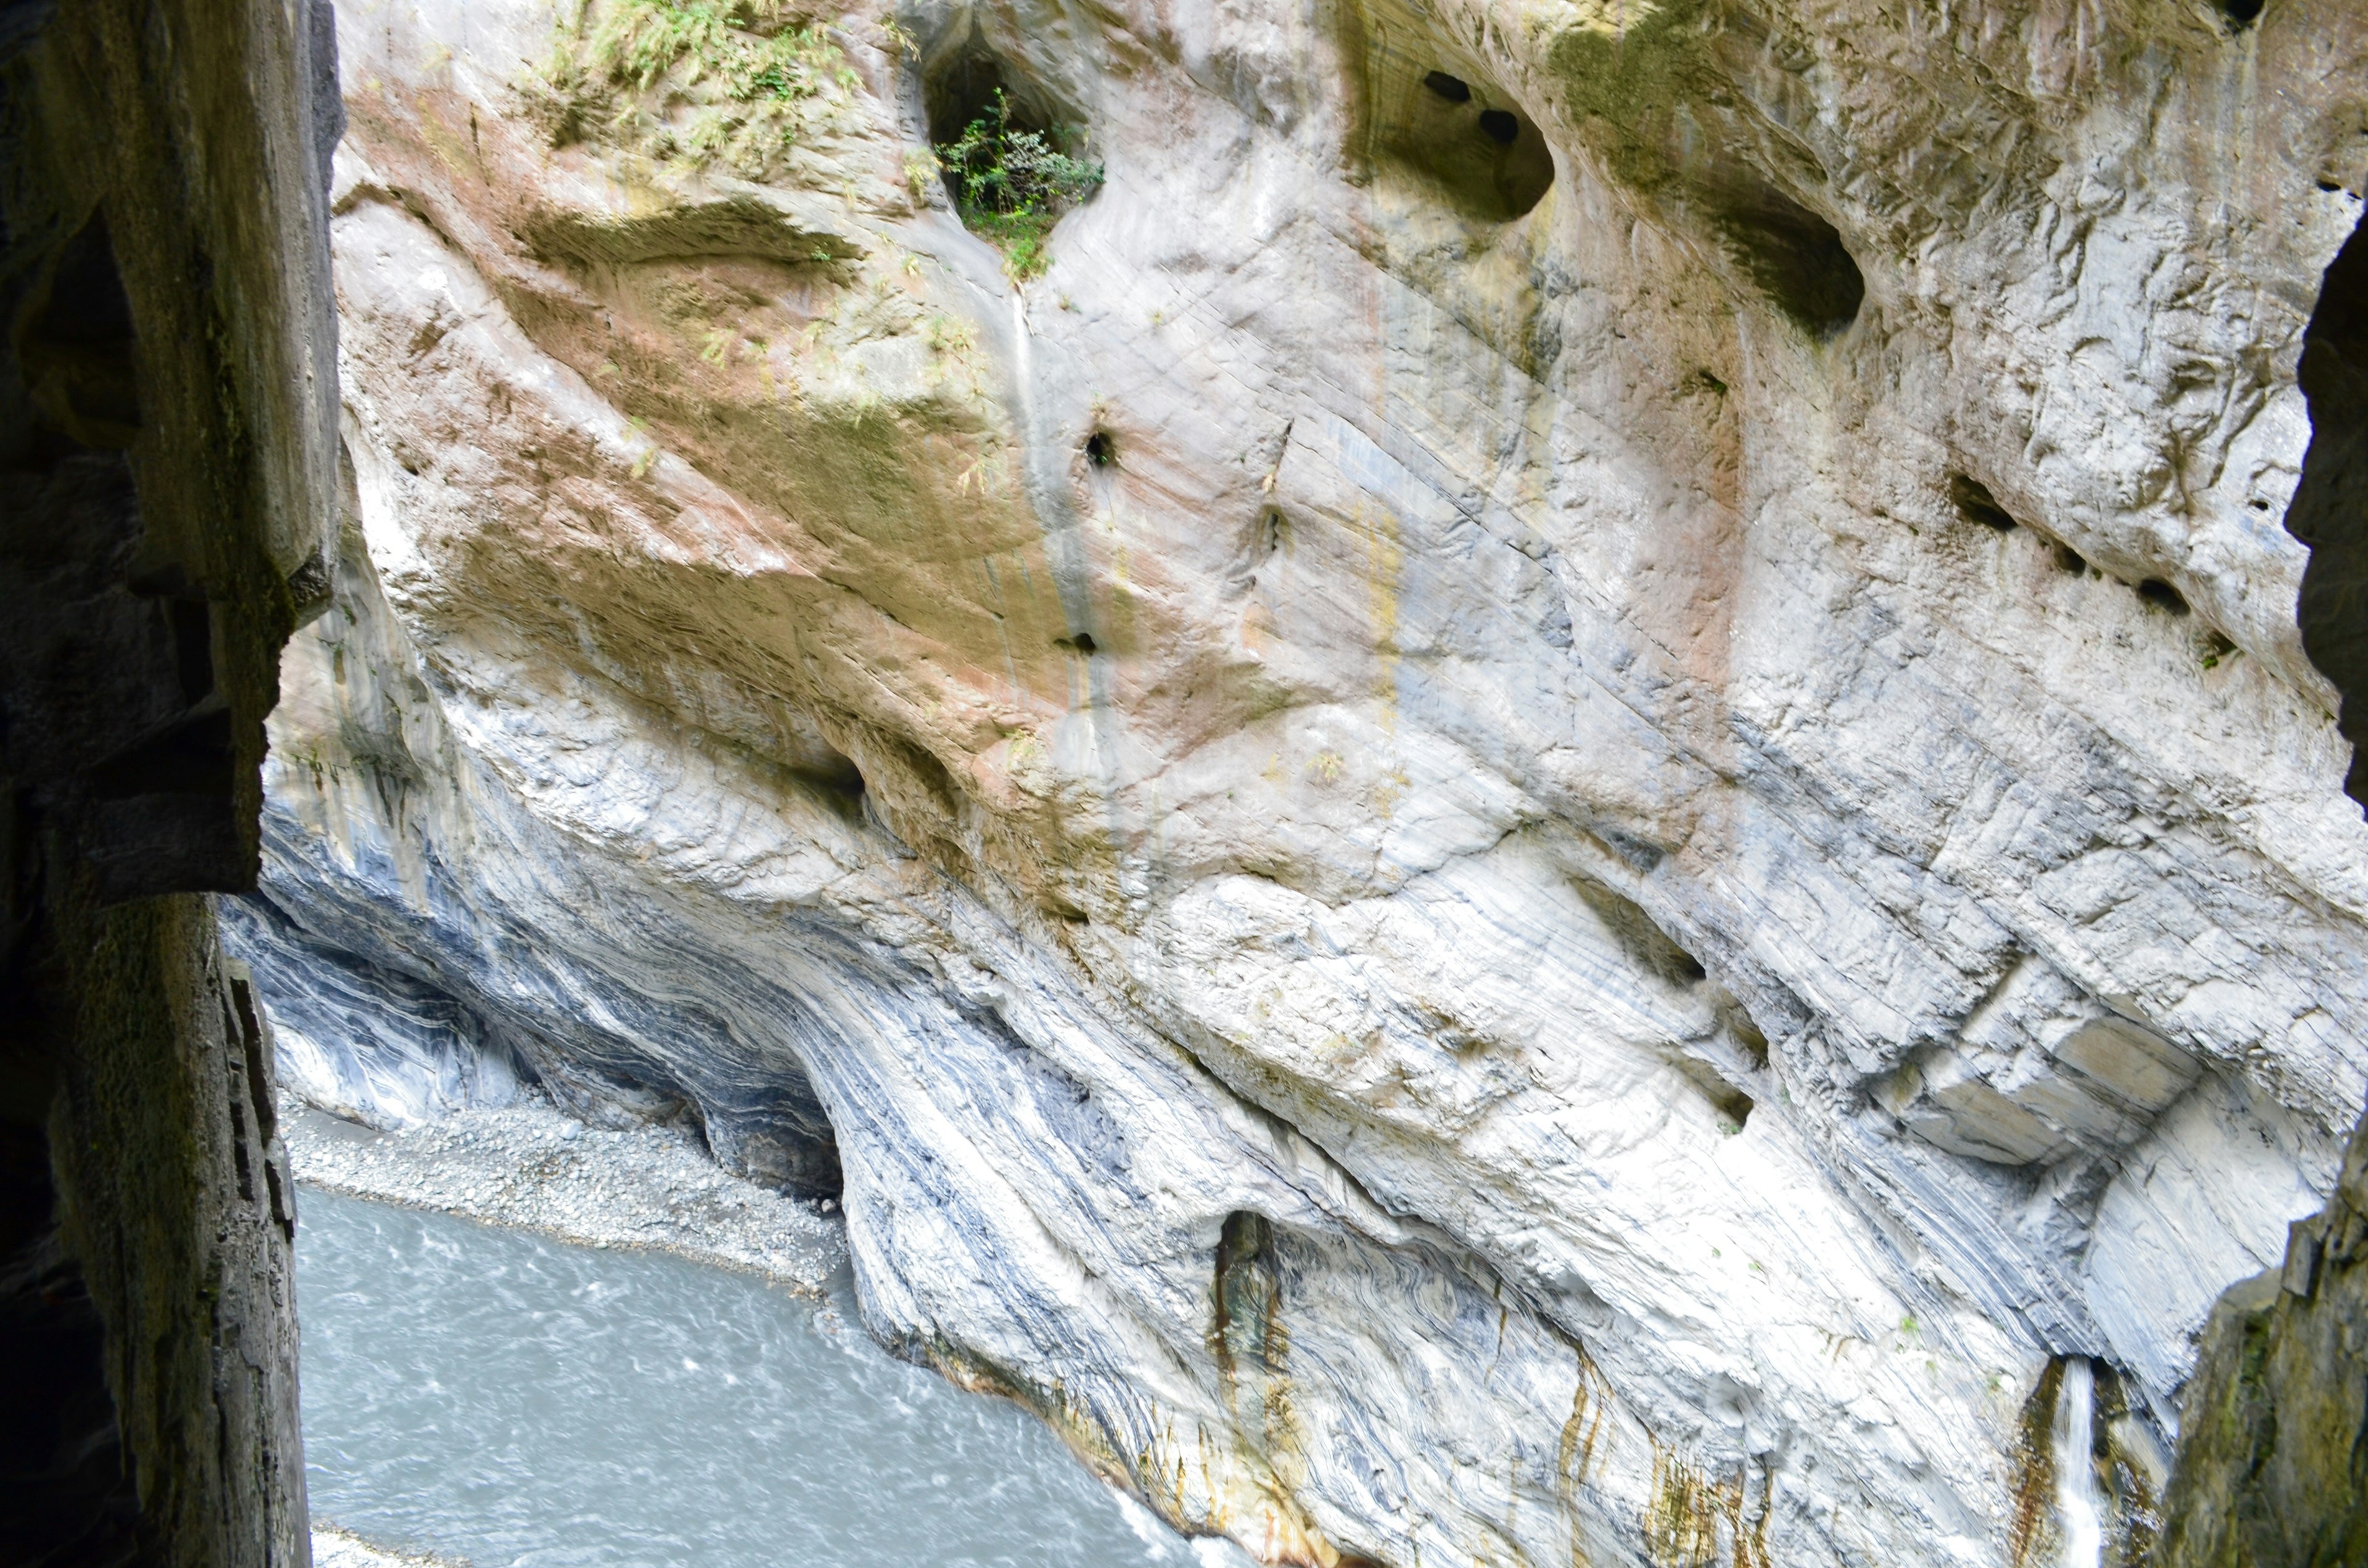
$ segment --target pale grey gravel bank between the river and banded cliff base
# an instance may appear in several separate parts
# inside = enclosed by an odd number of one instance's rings
[[[403,1132],[287,1099],[279,1125],[303,1187],[677,1253],[817,1296],[848,1255],[834,1210],[718,1168],[684,1127],[590,1127],[540,1097]]]

